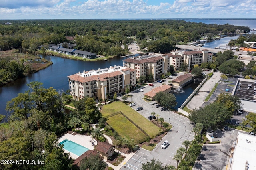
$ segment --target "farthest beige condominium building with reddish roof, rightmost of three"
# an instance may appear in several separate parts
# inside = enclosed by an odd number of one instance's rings
[[[180,66],[184,63],[188,64],[188,70],[191,70],[196,64],[200,66],[202,63],[211,62],[212,54],[208,53],[207,49],[202,51],[174,50],[171,51],[170,61],[175,70],[179,70]]]

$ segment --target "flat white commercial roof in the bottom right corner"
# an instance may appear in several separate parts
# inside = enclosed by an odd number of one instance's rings
[[[231,163],[231,170],[256,170],[256,136],[238,132],[236,146]]]

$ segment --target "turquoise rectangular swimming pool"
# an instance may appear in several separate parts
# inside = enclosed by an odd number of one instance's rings
[[[80,144],[77,144],[75,142],[72,142],[71,140],[65,139],[60,144],[64,145],[64,149],[66,149],[68,152],[71,152],[77,156],[81,156],[84,152],[89,150],[88,148],[81,146]]]

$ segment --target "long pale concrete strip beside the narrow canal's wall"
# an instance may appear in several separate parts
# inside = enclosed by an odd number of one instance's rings
[[[188,109],[193,110],[203,105],[204,100],[209,95],[214,85],[220,81],[220,75],[220,72],[214,72],[213,76],[202,85],[196,95],[194,95],[194,97],[192,97],[192,99],[188,102],[186,105]]]

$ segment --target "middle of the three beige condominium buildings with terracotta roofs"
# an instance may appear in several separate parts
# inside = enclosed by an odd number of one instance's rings
[[[148,54],[139,57],[130,57],[123,60],[123,66],[136,70],[136,79],[142,75],[152,73],[154,80],[168,72],[170,68],[169,55]]]

